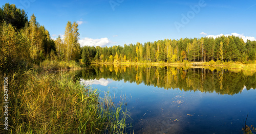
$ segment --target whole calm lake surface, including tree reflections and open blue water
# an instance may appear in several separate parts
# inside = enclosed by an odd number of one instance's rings
[[[81,81],[123,102],[134,133],[242,133],[256,125],[256,74],[222,68],[92,65]],[[128,131],[130,133],[130,131]]]

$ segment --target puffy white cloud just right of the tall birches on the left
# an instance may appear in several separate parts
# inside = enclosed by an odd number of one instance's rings
[[[92,39],[92,38],[83,38],[79,40],[80,46],[100,46],[104,47],[110,44],[110,40],[108,38],[101,38],[101,39]]]

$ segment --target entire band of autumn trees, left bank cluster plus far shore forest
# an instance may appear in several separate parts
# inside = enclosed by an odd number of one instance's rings
[[[64,38],[52,39],[36,16],[28,19],[23,9],[5,4],[0,10],[0,67],[8,68],[24,62],[51,61],[91,62],[208,62],[256,59],[256,41],[236,36],[214,38],[164,39],[124,46],[83,46],[78,43],[77,22],[68,21]]]

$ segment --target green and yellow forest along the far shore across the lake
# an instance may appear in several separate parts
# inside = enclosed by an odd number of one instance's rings
[[[144,44],[137,42],[124,46],[82,47],[83,62],[208,62],[253,61],[256,59],[256,41],[236,36],[221,36],[216,39],[164,39]]]

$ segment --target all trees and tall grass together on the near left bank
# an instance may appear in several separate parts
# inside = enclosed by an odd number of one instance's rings
[[[68,21],[64,39],[53,40],[34,14],[5,4],[0,9],[0,93],[8,115],[0,133],[124,133],[126,111],[79,77],[50,71],[80,69],[78,24]],[[8,91],[4,92],[4,78]],[[4,100],[0,99],[2,108]],[[1,109],[4,115],[5,109]],[[8,130],[3,121],[8,117]]]

